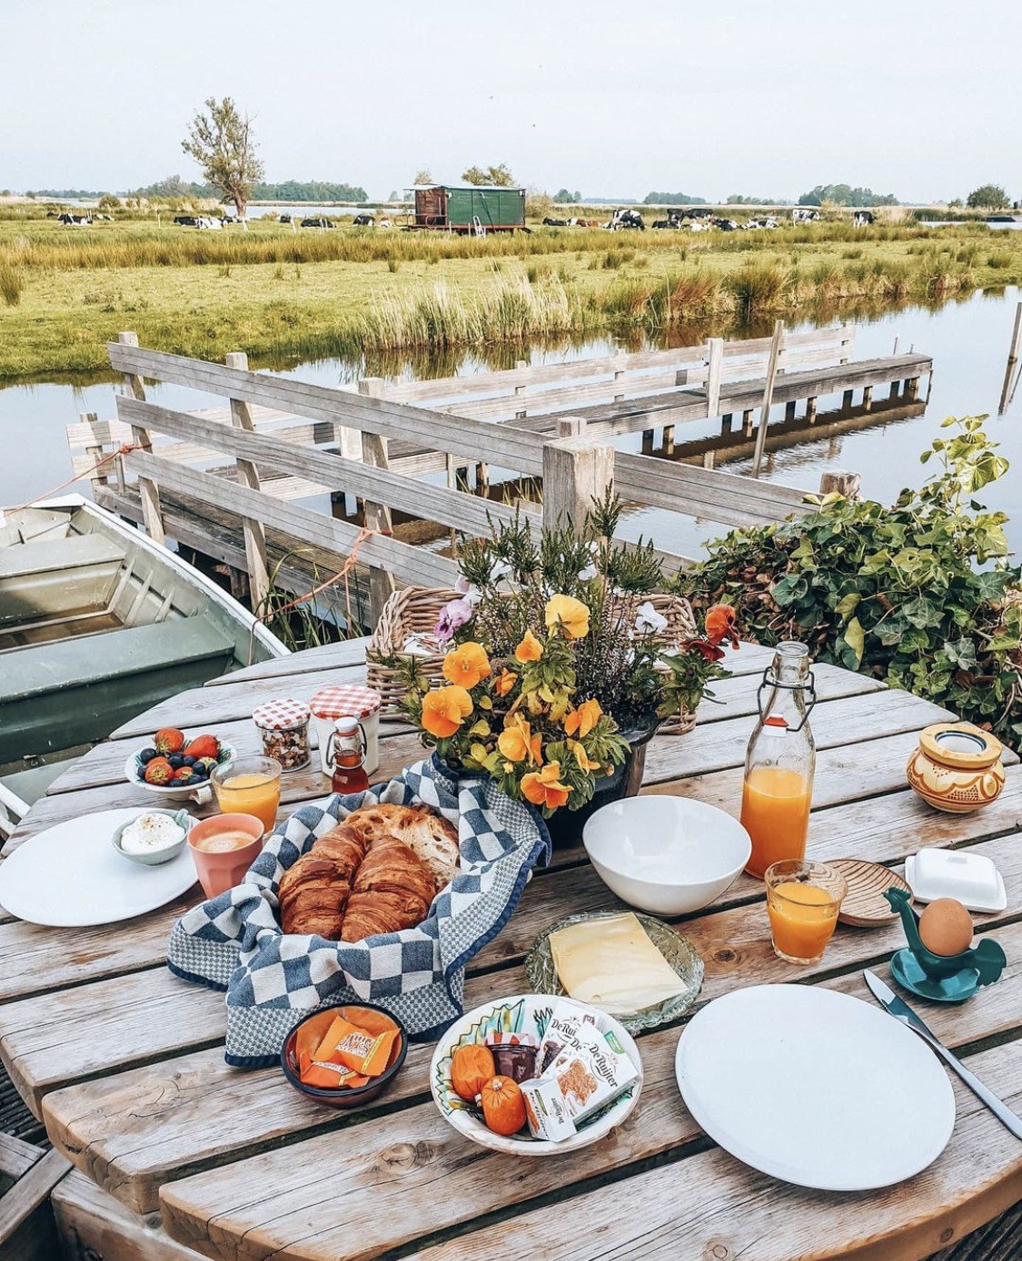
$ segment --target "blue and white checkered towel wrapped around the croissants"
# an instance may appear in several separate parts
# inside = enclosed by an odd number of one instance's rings
[[[361,806],[426,805],[458,828],[461,863],[418,928],[362,942],[285,934],[278,919],[284,871]],[[167,951],[175,976],[227,991],[226,1061],[275,1063],[288,1033],[312,1011],[377,1002],[411,1037],[437,1037],[462,1014],[464,968],[503,928],[532,866],[550,857],[537,811],[486,777],[455,774],[435,755],[396,779],[323,808],[304,806],[280,823],[245,883],[187,912]]]

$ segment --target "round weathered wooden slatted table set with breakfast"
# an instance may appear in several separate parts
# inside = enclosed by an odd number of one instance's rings
[[[308,699],[324,683],[357,681],[363,653],[358,641],[265,662],[139,715],[52,786],[8,851],[59,820],[151,806],[150,796],[125,782],[122,765],[156,726],[208,729],[240,753],[255,752],[255,704]],[[722,704],[700,709],[694,733],[651,743],[643,791],[738,811],[756,683],[768,660],[755,646],[733,654],[734,676],[717,689]],[[906,787],[905,763],[919,730],[946,711],[830,666],[816,667],[816,682],[810,856],[898,866],[922,844],[969,846],[1004,875],[1008,909],[980,922],[982,929],[998,926],[1008,956],[1003,980],[960,1008],[917,1005],[935,1033],[1018,1106],[1022,767],[1009,758],[1004,792],[985,810],[937,813]],[[385,724],[381,777],[419,755],[406,726]],[[327,789],[317,767],[286,774],[281,808],[286,813]],[[0,923],[0,1054],[54,1146],[76,1166],[54,1192],[73,1256],[901,1261],[958,1242],[1022,1193],[1022,1145],[956,1079],[954,1136],[911,1182],[869,1194],[823,1194],[757,1174],[714,1146],[686,1111],[674,1079],[679,1028],[641,1038],[646,1082],[631,1119],[560,1159],[501,1156],[452,1130],[429,1097],[429,1044],[413,1047],[376,1103],[355,1113],[318,1107],[279,1069],[226,1067],[223,995],[163,966],[175,917],[199,895],[196,886],[159,912],[105,928],[54,931],[10,917]],[[620,905],[580,847],[556,851],[469,967],[467,1008],[527,989],[522,958],[553,921]],[[775,981],[868,999],[862,968],[886,977],[902,941],[897,924],[839,927],[820,963],[794,968],[773,956],[762,885],[747,876],[679,927],[705,961],[700,1002]]]

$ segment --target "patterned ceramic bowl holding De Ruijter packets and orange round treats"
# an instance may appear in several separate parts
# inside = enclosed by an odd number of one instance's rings
[[[559,1156],[567,1151],[578,1151],[579,1148],[588,1148],[590,1142],[597,1142],[616,1126],[621,1125],[626,1116],[638,1102],[638,1093],[642,1090],[642,1061],[638,1048],[631,1034],[628,1034],[617,1020],[599,1013],[602,1020],[608,1020],[611,1030],[617,1037],[626,1054],[640,1071],[640,1078],[630,1086],[623,1095],[620,1095],[612,1103],[596,1112],[582,1124],[578,1132],[561,1142],[550,1142],[545,1139],[534,1139],[527,1131],[505,1136],[495,1134],[483,1124],[479,1110],[457,1093],[450,1084],[450,1058],[458,1047],[469,1043],[483,1042],[488,1033],[527,1033],[534,1038],[543,1039],[546,1025],[554,1006],[567,1002],[578,1008],[579,1011],[592,1011],[584,1002],[575,1002],[573,999],[558,999],[556,1001],[540,994],[519,994],[510,999],[500,999],[496,1002],[486,1002],[474,1011],[462,1016],[447,1030],[437,1043],[433,1054],[433,1063],[429,1066],[429,1088],[433,1092],[433,1101],[440,1110],[440,1115],[459,1134],[463,1134],[482,1148],[491,1151],[503,1151],[512,1156]]]

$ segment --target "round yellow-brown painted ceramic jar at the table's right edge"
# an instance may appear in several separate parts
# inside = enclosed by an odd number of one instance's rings
[[[1001,796],[1001,741],[972,723],[937,723],[920,735],[906,774],[924,801],[966,815]]]

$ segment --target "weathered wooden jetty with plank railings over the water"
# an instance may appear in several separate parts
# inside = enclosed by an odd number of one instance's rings
[[[122,333],[110,344],[124,380],[117,419],[82,417],[68,436],[78,472],[131,445],[92,473],[97,502],[247,575],[254,607],[271,580],[303,593],[358,549],[358,612],[371,620],[395,584],[443,586],[457,574],[449,556],[397,537],[395,512],[478,535],[488,518],[510,520],[516,509],[548,522],[578,512],[607,480],[627,502],[724,527],[797,512],[806,489],[650,453],[657,434],[670,454],[678,425],[719,416],[725,433],[741,426],[758,473],[771,420],[790,429],[800,406],[813,425],[828,396],[847,410],[860,392],[868,411],[886,387],[888,402],[917,405],[927,356],[855,362],[852,342],[847,327],[789,334],[778,322],[771,338],[442,381],[368,378],[352,390],[250,372],[244,354],[218,364],[143,349]],[[146,398],[145,381],[225,405],[163,407]],[[643,454],[612,445],[630,434],[643,435]],[[521,478],[543,479],[541,507],[487,493],[491,480],[512,488]],[[343,520],[349,496],[362,504],[365,530]],[[302,502],[317,497],[332,497],[331,514]],[[670,569],[688,562],[661,555]]]

